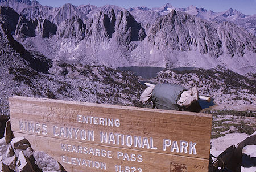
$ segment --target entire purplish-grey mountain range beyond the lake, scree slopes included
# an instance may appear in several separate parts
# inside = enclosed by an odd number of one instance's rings
[[[241,74],[255,72],[256,38],[248,33],[254,33],[255,16],[236,10],[216,13],[170,4],[53,8],[29,0],[1,0],[0,5],[16,11],[18,21],[10,30],[14,39],[53,62],[112,68],[221,65]]]

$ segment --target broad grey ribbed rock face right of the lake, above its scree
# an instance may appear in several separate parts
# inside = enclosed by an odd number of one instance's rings
[[[200,51],[214,58],[222,54],[243,56],[247,50],[256,50],[255,37],[232,23],[208,23],[175,10],[156,20],[148,32],[148,42],[157,49],[167,46],[175,51]]]

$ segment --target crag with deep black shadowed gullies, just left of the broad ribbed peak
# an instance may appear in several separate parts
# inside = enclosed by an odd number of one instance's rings
[[[98,12],[91,24],[89,42],[100,44],[114,38],[118,45],[129,49],[132,41],[142,41],[146,37],[144,29],[134,20],[128,11],[112,9],[108,13]]]

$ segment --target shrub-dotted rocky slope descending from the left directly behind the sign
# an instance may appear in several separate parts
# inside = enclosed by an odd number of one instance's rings
[[[2,115],[9,116],[8,97],[14,94],[105,104],[138,104],[143,88],[138,78],[129,72],[105,66],[52,63],[42,54],[32,54],[22,46],[16,48],[8,38],[2,33],[0,40]],[[31,59],[27,58],[29,55]]]

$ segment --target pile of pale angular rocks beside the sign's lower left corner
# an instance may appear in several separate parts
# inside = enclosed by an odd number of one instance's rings
[[[48,154],[34,151],[26,138],[14,138],[9,128],[10,121],[6,126],[6,135],[0,139],[0,171],[65,171],[59,162]]]

